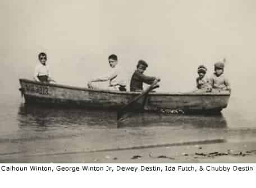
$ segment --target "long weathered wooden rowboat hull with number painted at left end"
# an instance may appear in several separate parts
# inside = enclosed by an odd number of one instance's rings
[[[20,79],[21,92],[27,104],[88,107],[99,109],[120,109],[139,92],[121,92],[111,90],[90,90],[88,88],[45,84]],[[190,112],[220,112],[227,107],[229,91],[211,93],[149,93],[149,108],[180,109]]]

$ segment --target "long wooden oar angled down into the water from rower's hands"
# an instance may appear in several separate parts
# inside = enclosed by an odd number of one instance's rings
[[[138,97],[135,97],[134,100],[130,101],[127,105],[122,107],[117,112],[117,120],[119,120],[126,112],[129,110],[129,107],[134,105],[141,97],[147,95],[150,91],[154,90],[155,88],[158,88],[159,85],[157,84],[159,81],[154,81],[146,90],[144,90]],[[145,101],[145,100],[144,100]],[[144,106],[145,102],[143,102],[142,107]]]

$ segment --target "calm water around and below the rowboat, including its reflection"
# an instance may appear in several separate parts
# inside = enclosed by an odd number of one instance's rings
[[[138,139],[143,139],[144,136],[159,137],[164,131],[164,134],[170,136],[171,142],[179,141],[184,135],[194,139],[253,139],[256,133],[254,111],[250,110],[253,103],[248,101],[248,105],[243,107],[237,101],[239,100],[231,97],[227,109],[220,115],[141,113],[132,114],[130,118],[117,124],[116,111],[52,109],[26,105],[24,98],[18,95],[15,98],[6,96],[0,107],[0,136],[22,139],[27,137],[27,134],[28,137],[41,137],[50,133],[65,136],[67,132],[83,134],[85,131],[90,134],[90,131],[93,133],[97,130],[97,133],[102,135],[100,139],[104,141],[104,133],[111,131],[111,135],[118,139],[120,132],[125,130],[127,134],[135,134]],[[245,100],[243,104],[244,102]]]

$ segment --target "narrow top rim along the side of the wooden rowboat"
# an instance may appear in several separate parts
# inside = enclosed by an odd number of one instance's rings
[[[52,86],[52,87],[59,87],[64,89],[70,89],[70,90],[79,90],[79,91],[88,91],[88,92],[99,92],[99,93],[110,93],[110,94],[117,94],[117,95],[139,95],[140,92],[124,92],[124,91],[112,91],[112,90],[92,90],[89,88],[83,88],[83,87],[77,87],[77,86],[68,86],[63,84],[53,84],[53,83],[41,83],[32,81],[30,79],[19,79],[21,82],[26,83],[33,83],[36,85],[41,86]],[[156,93],[149,93],[149,96],[230,96],[230,93],[169,93],[169,92],[156,92]]]

